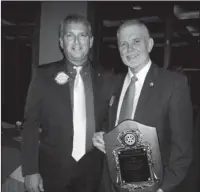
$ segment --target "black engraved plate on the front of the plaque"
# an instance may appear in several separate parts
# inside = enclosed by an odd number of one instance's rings
[[[125,183],[144,182],[151,177],[144,148],[126,149],[118,153],[121,179]]]

